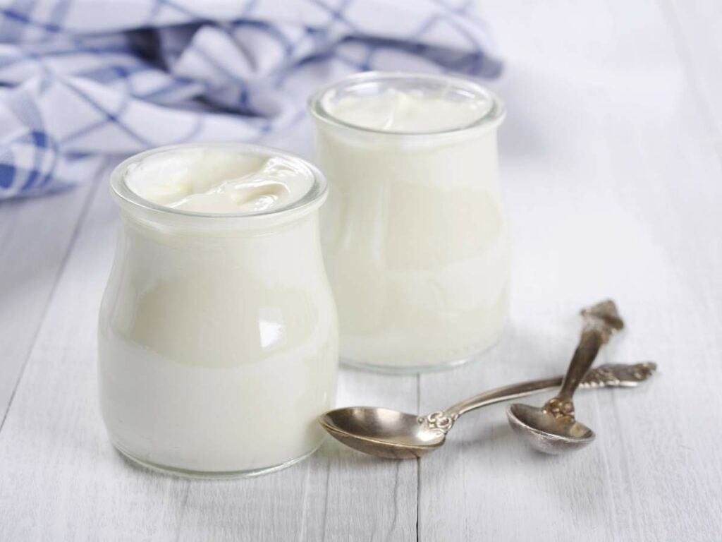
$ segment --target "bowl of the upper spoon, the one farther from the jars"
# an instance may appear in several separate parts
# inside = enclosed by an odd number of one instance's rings
[[[547,454],[572,452],[590,444],[594,431],[571,416],[555,417],[544,408],[522,403],[510,405],[506,416],[514,431],[531,447]]]

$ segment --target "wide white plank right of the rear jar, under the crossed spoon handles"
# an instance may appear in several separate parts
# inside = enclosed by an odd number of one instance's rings
[[[629,329],[603,358],[661,375],[580,395],[598,440],[569,457],[523,448],[503,406],[469,414],[422,460],[419,539],[715,540],[722,168],[682,59],[651,1],[484,6],[508,59],[510,327],[478,364],[424,375],[421,410],[560,372],[575,311],[604,296]]]

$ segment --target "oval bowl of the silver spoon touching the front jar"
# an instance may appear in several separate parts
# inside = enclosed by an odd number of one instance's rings
[[[319,422],[339,442],[388,459],[423,457],[446,439],[445,432],[431,427],[427,418],[392,408],[336,408]]]

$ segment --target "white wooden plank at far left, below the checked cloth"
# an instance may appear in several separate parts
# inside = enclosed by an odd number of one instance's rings
[[[91,189],[0,202],[0,426]]]

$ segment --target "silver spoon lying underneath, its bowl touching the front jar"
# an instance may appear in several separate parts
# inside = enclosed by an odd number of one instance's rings
[[[651,362],[604,365],[589,371],[581,387],[636,387],[656,371]],[[438,449],[462,414],[487,405],[553,390],[562,377],[534,380],[490,390],[427,416],[379,407],[346,407],[329,410],[319,423],[336,440],[360,452],[389,459],[413,459]]]

